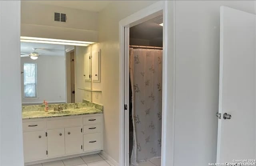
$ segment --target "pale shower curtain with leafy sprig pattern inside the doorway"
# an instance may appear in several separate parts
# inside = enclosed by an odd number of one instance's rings
[[[161,156],[162,50],[130,48],[132,165]]]

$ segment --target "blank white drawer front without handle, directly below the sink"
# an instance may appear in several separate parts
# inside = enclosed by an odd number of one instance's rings
[[[73,126],[82,126],[82,118],[70,118],[70,119],[59,119],[59,120],[48,120],[47,128],[66,128]]]

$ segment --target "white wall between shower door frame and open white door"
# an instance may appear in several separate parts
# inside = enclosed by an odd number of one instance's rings
[[[220,6],[255,13],[254,1],[176,1],[174,166],[216,162]]]

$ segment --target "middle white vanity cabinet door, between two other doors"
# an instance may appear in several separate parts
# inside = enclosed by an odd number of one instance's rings
[[[65,154],[64,128],[47,131],[48,157],[62,156]]]

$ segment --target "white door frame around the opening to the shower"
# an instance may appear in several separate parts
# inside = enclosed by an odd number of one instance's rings
[[[175,1],[168,0],[156,2],[119,22],[119,166],[129,165],[129,28],[161,14],[164,22],[161,165],[174,166]],[[127,104],[127,110],[124,110],[124,104]]]

